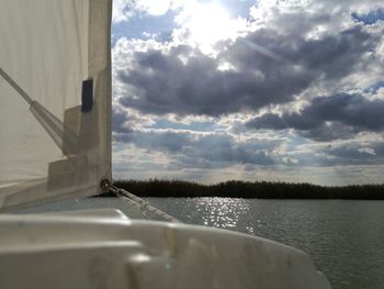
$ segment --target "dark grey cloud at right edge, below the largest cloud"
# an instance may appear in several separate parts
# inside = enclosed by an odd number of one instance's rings
[[[339,93],[314,98],[298,113],[266,113],[249,121],[248,129],[294,129],[317,141],[347,138],[363,131],[384,131],[384,101],[361,95]]]

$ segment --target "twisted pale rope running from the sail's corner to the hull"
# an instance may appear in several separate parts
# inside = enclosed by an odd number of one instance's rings
[[[146,200],[143,200],[142,198],[138,198],[137,196],[124,190],[114,187],[110,184],[103,184],[104,189],[108,188],[110,191],[115,193],[116,196],[121,197],[125,201],[129,202],[133,207],[137,208],[142,211],[143,215],[145,216],[147,212],[155,213],[156,215],[165,219],[166,221],[172,222],[172,223],[180,223],[180,221],[176,218],[173,218],[170,214],[167,214],[166,212],[153,207],[147,202]]]

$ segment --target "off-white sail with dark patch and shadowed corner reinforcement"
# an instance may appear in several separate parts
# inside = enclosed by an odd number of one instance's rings
[[[112,0],[0,0],[0,210],[111,179]]]

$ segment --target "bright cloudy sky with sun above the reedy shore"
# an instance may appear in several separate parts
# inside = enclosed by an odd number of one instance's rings
[[[115,179],[383,182],[382,0],[114,0]]]

